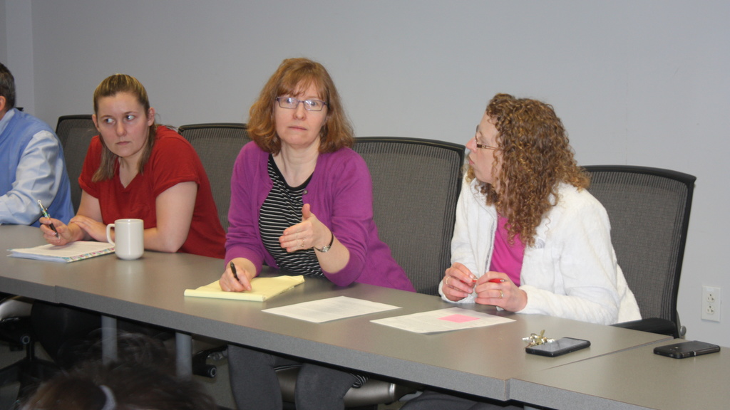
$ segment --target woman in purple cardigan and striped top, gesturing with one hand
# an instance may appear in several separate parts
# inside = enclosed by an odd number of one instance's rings
[[[293,274],[413,290],[377,237],[372,181],[350,147],[352,126],[337,89],[320,64],[283,61],[250,109],[248,134],[231,177],[226,271],[220,287],[250,290],[266,262]],[[231,271],[235,265],[237,277]],[[274,368],[301,364],[231,345],[231,389],[242,409],[282,409]],[[296,408],[343,409],[350,387],[366,378],[304,363],[296,382]]]

